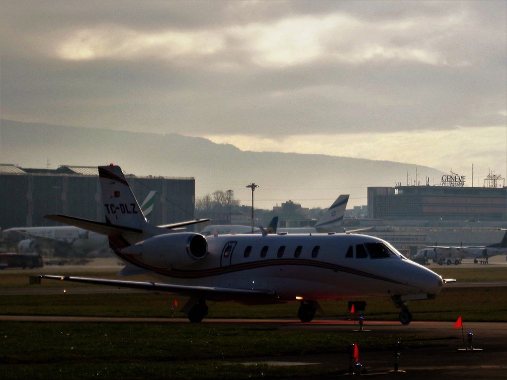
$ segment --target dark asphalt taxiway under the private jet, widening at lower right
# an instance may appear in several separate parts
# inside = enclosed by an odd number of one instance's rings
[[[74,322],[74,323],[167,323],[190,324],[185,318],[118,318],[118,317],[66,317],[66,316],[0,316],[2,321],[33,322]],[[351,342],[358,334],[391,336],[393,344],[402,334],[431,334],[441,336],[434,347],[411,348],[401,351],[399,368],[405,373],[392,373],[394,368],[394,351],[391,348],[379,351],[363,352],[359,347],[360,362],[364,375],[392,378],[404,376],[411,380],[431,379],[507,379],[507,323],[463,322],[462,330],[453,328],[454,322],[418,322],[401,325],[393,321],[366,321],[364,327],[371,331],[357,331],[354,321],[315,319],[302,323],[295,319],[204,319],[204,324],[233,324],[236,326],[269,326],[278,329],[298,329],[311,333],[325,330],[330,334],[346,334]],[[355,331],[354,331],[355,330]],[[458,351],[467,347],[466,334],[473,331],[473,347],[482,351]],[[403,342],[402,342],[403,343]],[[245,365],[268,364],[287,365],[322,365],[347,368],[346,354],[309,354],[283,357],[255,357],[226,361]],[[340,373],[343,373],[342,370]],[[336,377],[344,375],[337,373]],[[345,376],[348,377],[348,376]]]

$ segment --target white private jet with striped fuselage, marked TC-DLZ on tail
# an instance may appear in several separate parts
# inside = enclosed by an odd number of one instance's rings
[[[384,296],[401,309],[403,324],[412,320],[408,300],[434,298],[449,281],[371,236],[167,233],[146,221],[119,166],[99,166],[98,171],[105,222],[46,217],[107,235],[114,253],[127,263],[126,272],[140,269],[157,282],[41,278],[186,294],[190,300],[182,312],[191,322],[207,314],[206,301],[299,301],[299,318],[309,322],[320,309],[319,300]]]

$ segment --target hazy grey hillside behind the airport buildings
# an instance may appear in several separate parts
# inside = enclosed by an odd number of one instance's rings
[[[390,161],[297,153],[242,151],[200,137],[74,128],[2,120],[0,162],[27,168],[115,163],[139,176],[195,177],[196,197],[232,189],[235,199],[250,204],[255,182],[256,207],[271,209],[287,200],[303,207],[328,208],[340,194],[349,206],[367,204],[367,187],[396,182],[439,183],[440,170]],[[311,138],[309,136],[309,138]],[[375,144],[375,141],[371,142]],[[421,154],[424,149],[421,146]]]

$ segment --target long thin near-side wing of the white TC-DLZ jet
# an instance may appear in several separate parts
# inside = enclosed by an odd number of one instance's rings
[[[54,276],[54,275],[40,275],[41,279],[61,280],[82,282],[86,284],[110,285],[122,288],[142,289],[151,291],[175,292],[186,294],[190,296],[198,296],[210,300],[236,300],[242,299],[245,296],[250,298],[273,298],[275,292],[271,289],[251,290],[251,289],[235,289],[235,288],[215,288],[209,286],[190,286],[190,285],[174,285],[163,284],[150,281],[123,281],[123,280],[108,280],[89,277],[70,277],[70,276]]]

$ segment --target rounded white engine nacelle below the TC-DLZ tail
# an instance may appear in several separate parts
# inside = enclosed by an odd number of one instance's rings
[[[208,252],[204,236],[175,233],[154,236],[124,248],[122,253],[139,255],[143,262],[160,268],[180,268],[202,259]]]

